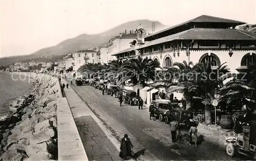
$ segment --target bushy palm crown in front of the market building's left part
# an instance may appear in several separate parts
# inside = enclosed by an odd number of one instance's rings
[[[120,70],[118,70],[118,74],[122,75],[119,84],[131,79],[133,85],[141,84],[145,87],[149,81],[155,81],[156,68],[160,68],[160,63],[147,57],[145,59],[138,57],[125,61]]]

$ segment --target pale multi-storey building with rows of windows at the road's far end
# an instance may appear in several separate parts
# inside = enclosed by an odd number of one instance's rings
[[[84,63],[97,63],[97,52],[94,50],[80,50],[73,53],[74,64],[73,70],[77,71],[77,69],[82,66]]]

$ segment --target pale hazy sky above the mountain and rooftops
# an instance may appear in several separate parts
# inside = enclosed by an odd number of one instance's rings
[[[0,57],[26,55],[137,19],[165,25],[196,16],[256,23],[256,0],[0,0]]]

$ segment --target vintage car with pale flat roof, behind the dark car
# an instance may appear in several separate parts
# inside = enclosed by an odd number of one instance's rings
[[[170,110],[170,102],[171,101],[168,99],[153,100],[155,115],[157,116],[157,118],[159,118],[160,121],[164,120],[164,113],[167,110]]]

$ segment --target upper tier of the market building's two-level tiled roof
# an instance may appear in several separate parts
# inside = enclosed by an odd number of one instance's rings
[[[146,37],[151,37],[153,35],[157,35],[159,33],[162,33],[162,32],[165,32],[165,31],[168,31],[168,30],[171,30],[171,29],[174,29],[174,28],[177,28],[178,26],[181,26],[181,25],[184,25],[184,24],[187,24],[187,23],[190,23],[190,22],[223,22],[223,23],[237,23],[237,25],[239,24],[245,24],[245,22],[241,22],[241,21],[236,21],[236,20],[231,20],[231,19],[225,19],[225,18],[220,18],[220,17],[214,17],[214,16],[207,16],[207,15],[201,15],[199,17],[196,17],[196,18],[193,18],[193,19],[190,19],[188,21],[185,21],[185,22],[182,22],[180,24],[177,24],[177,25],[174,25],[174,26],[171,26],[169,28],[166,28],[164,30],[161,30],[159,32],[156,32],[154,34],[151,34],[151,35],[147,35]],[[145,38],[146,38],[145,37]]]

